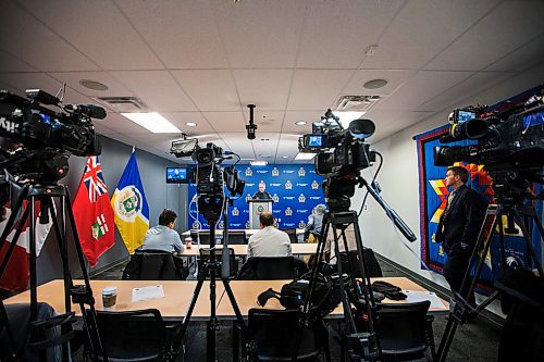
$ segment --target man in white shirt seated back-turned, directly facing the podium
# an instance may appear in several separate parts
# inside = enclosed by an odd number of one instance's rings
[[[271,212],[259,215],[261,229],[249,238],[247,257],[290,257],[290,239],[287,233],[279,230],[274,225]]]

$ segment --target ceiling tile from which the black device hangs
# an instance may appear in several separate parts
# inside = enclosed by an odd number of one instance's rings
[[[283,110],[292,71],[289,70],[236,70],[236,88],[242,104],[256,104],[260,110]]]

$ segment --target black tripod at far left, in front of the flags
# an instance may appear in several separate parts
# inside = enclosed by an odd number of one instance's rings
[[[58,215],[53,207],[54,198],[60,199],[60,216],[62,217],[62,222],[59,223]],[[27,200],[28,204],[24,208],[21,221],[17,223],[17,215],[21,214],[23,210],[23,201]],[[37,203],[39,202],[40,207],[40,223],[47,224],[49,223],[49,217],[52,220],[52,225],[54,228],[54,233],[57,236],[57,241],[59,246],[59,252],[62,259],[62,272],[64,279],[64,305],[65,313],[61,315],[57,315],[47,321],[38,321],[38,296],[37,296],[37,272],[36,272],[36,219],[37,215]],[[30,216],[32,215],[32,216]],[[70,272],[69,259],[67,259],[67,238],[66,238],[66,215],[70,220],[70,224],[72,226],[72,235],[74,247],[77,252],[77,258],[79,262],[79,267],[84,277],[84,285],[74,285],[73,278]],[[0,264],[0,277],[3,275],[10,258],[14,251],[15,245],[24,229],[26,223],[29,223],[28,232],[29,232],[29,274],[30,274],[30,327],[29,334],[30,338],[29,345],[26,347],[34,347],[36,350],[40,350],[40,360],[45,361],[45,348],[50,345],[59,345],[62,344],[62,360],[69,361],[69,344],[67,340],[73,337],[72,323],[74,322],[74,312],[72,311],[72,302],[79,304],[82,310],[83,320],[85,323],[85,327],[87,330],[87,337],[90,345],[90,351],[92,353],[92,358],[98,358],[98,352],[101,353],[101,357],[104,361],[108,361],[108,357],[106,351],[102,348],[102,344],[100,340],[100,335],[98,333],[97,321],[96,321],[96,311],[95,311],[95,299],[92,297],[92,290],[90,288],[89,276],[87,270],[85,267],[85,261],[83,257],[82,246],[79,244],[79,237],[77,234],[77,229],[75,227],[75,219],[74,213],[72,211],[70,204],[70,194],[65,186],[63,185],[53,185],[53,186],[36,186],[36,185],[25,185],[23,186],[21,194],[16,198],[14,202],[14,208],[12,209],[12,213],[8,223],[5,225],[5,229],[0,237],[0,248],[5,242],[9,234],[16,227],[15,235],[10,242],[10,247],[1,261]],[[15,225],[16,224],[16,225]],[[72,301],[71,301],[72,297]],[[86,309],[85,304],[88,305]],[[2,327],[7,328],[7,334],[9,337],[10,345],[12,346],[12,357],[21,358],[24,360],[24,349],[23,350],[14,350],[15,341],[13,339],[13,334],[11,330],[11,326],[9,323],[9,319],[7,315],[5,307],[2,301],[0,301],[0,330]],[[61,335],[55,337],[54,339],[49,339],[46,341],[39,340],[39,336],[41,332],[52,327],[61,327]],[[38,339],[38,340],[36,340]],[[48,342],[48,344],[45,344]]]

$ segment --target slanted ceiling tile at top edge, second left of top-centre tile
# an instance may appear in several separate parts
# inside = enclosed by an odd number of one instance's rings
[[[164,66],[112,1],[40,1],[22,4],[103,70]]]

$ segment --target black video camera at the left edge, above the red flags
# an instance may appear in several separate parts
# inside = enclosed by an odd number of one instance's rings
[[[0,164],[21,179],[54,184],[67,174],[70,154],[101,153],[91,118],[104,117],[101,107],[61,105],[44,90],[27,89],[26,98],[0,90]]]

